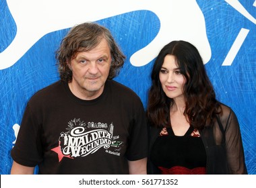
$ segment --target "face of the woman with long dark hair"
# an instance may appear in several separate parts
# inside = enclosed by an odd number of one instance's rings
[[[183,87],[186,82],[177,66],[176,58],[166,55],[159,73],[162,89],[167,97],[171,99],[183,98]]]

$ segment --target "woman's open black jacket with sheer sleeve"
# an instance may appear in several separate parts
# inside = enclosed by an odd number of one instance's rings
[[[238,120],[230,107],[224,104],[221,107],[223,113],[217,117],[215,124],[200,131],[207,156],[206,173],[213,175],[247,174]],[[148,126],[150,132],[148,173],[160,174],[150,156],[152,146],[162,128],[157,128],[154,125]]]

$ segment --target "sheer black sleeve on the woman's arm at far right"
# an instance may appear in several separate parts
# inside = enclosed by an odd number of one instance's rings
[[[224,107],[221,119],[225,130],[226,156],[230,173],[247,174],[241,131],[236,115],[232,109]]]

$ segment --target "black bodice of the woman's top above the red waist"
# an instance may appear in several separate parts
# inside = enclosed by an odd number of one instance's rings
[[[190,127],[184,136],[175,136],[172,128],[166,129],[168,135],[158,136],[152,146],[151,160],[156,167],[181,166],[188,169],[206,166],[206,154],[200,137],[193,137]]]

